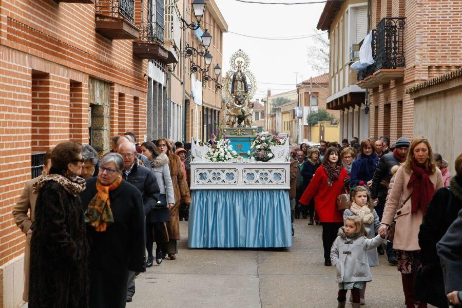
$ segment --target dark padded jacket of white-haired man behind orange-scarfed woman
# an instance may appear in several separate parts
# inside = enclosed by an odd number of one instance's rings
[[[160,188],[152,169],[141,166],[136,160],[128,176],[125,174],[125,170],[123,171],[123,178],[140,190],[143,196],[144,215],[147,215],[154,209],[160,193]]]

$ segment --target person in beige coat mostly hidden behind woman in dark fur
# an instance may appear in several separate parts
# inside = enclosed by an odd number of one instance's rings
[[[21,231],[26,235],[26,246],[24,247],[24,291],[23,300],[29,299],[29,263],[30,263],[30,239],[32,237],[31,226],[35,220],[35,202],[37,195],[33,193],[32,186],[42,177],[48,174],[51,168],[51,150],[48,150],[43,156],[43,171],[40,177],[26,182],[20,199],[13,208],[14,222]],[[30,217],[27,215],[30,208]]]

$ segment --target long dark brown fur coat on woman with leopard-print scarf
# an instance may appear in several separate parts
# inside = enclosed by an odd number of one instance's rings
[[[32,229],[29,307],[88,307],[89,245],[80,196],[55,181],[46,183]]]

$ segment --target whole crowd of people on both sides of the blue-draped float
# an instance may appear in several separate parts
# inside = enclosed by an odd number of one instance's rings
[[[190,144],[137,143],[133,132],[113,137],[102,158],[72,141],[48,150],[43,174],[26,182],[12,213],[26,235],[29,307],[125,307],[137,275],[177,258],[190,157]],[[322,225],[338,307],[348,290],[353,307],[365,303],[370,267],[385,253],[401,273],[407,308],[460,304],[462,154],[453,177],[422,136],[301,144],[290,162],[292,220]]]

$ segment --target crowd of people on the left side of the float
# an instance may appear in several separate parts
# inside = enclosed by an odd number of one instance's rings
[[[101,159],[72,141],[48,150],[42,175],[26,182],[12,213],[27,236],[29,307],[132,301],[135,276],[178,254],[180,211],[187,221],[191,202],[189,157],[190,144],[137,144],[133,132],[113,137]]]

